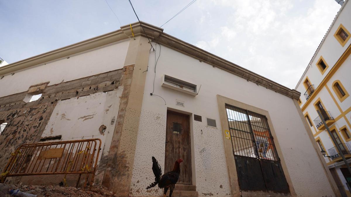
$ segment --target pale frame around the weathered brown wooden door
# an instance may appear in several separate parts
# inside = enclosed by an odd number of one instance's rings
[[[195,148],[194,148],[194,127],[193,127],[193,120],[194,115],[191,112],[183,111],[179,109],[174,109],[167,107],[166,109],[166,116],[167,111],[174,111],[181,114],[189,115],[189,135],[190,135],[190,147],[191,147],[191,185],[196,185],[196,171],[195,171]],[[167,124],[167,117],[166,117],[166,124]],[[166,128],[165,128],[166,129]],[[166,141],[166,133],[165,133],[165,141]],[[165,153],[166,156],[166,153]]]

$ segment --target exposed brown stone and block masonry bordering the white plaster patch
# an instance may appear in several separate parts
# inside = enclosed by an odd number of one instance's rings
[[[117,89],[125,70],[118,69],[47,86],[40,99],[33,102],[23,101],[27,92],[1,97],[0,121],[8,124],[0,135],[0,172],[20,144],[39,142],[57,101]],[[33,85],[28,84],[28,88]]]

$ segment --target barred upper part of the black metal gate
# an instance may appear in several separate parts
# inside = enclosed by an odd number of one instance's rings
[[[233,154],[280,161],[264,115],[226,104]]]

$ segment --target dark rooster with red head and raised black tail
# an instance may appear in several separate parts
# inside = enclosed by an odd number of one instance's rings
[[[180,167],[179,164],[183,162],[183,159],[177,159],[174,163],[173,170],[162,175],[160,164],[158,164],[155,157],[152,157],[152,171],[155,175],[155,182],[151,183],[146,189],[150,189],[158,184],[159,188],[165,188],[163,196],[166,197],[168,188],[170,188],[170,197],[174,190],[174,185],[178,182]]]

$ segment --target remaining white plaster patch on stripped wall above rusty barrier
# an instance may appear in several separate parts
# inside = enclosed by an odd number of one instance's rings
[[[100,138],[99,163],[102,149],[104,154],[110,149],[115,125],[111,124],[111,119],[115,116],[117,121],[122,90],[119,87],[106,93],[58,101],[41,137],[62,135],[61,141]],[[99,132],[102,124],[107,127],[104,135]]]

